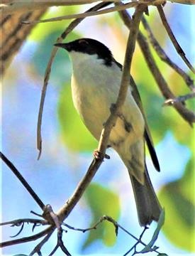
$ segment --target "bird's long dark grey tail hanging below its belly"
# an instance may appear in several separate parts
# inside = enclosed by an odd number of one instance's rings
[[[162,208],[150,181],[146,166],[144,185],[140,184],[131,174],[130,180],[133,186],[140,225],[145,226],[149,225],[152,220],[157,221],[160,218]]]

